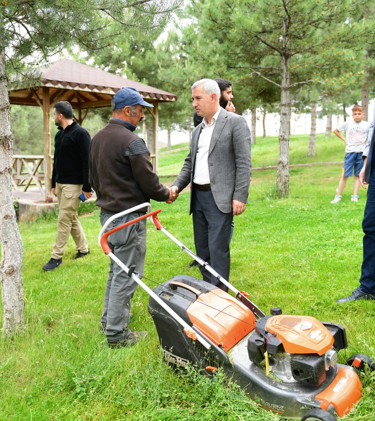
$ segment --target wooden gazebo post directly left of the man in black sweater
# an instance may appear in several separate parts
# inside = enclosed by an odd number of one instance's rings
[[[52,198],[52,159],[51,159],[51,124],[50,124],[50,89],[43,86],[43,137],[44,137],[44,189],[45,200]]]

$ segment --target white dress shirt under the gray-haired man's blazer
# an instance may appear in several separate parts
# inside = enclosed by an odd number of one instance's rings
[[[210,174],[208,173],[208,149],[210,148],[213,129],[219,117],[221,107],[211,118],[211,124],[207,124],[207,118],[203,117],[202,131],[199,135],[197,155],[195,157],[194,178],[195,184],[210,184]]]

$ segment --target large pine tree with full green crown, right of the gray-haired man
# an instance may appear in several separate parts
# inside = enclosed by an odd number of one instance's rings
[[[306,84],[346,85],[363,77],[374,25],[371,0],[191,0],[190,51],[231,80],[261,78],[280,92],[277,195],[289,194],[290,93]],[[204,64],[206,63],[206,64]]]

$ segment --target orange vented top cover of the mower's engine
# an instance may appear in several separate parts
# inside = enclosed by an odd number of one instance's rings
[[[266,329],[276,333],[285,352],[323,355],[332,348],[332,333],[315,317],[279,314],[270,317]]]

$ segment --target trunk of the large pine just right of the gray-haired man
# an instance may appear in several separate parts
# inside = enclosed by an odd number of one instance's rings
[[[277,160],[276,194],[289,195],[290,72],[289,57],[282,56],[279,159]]]

